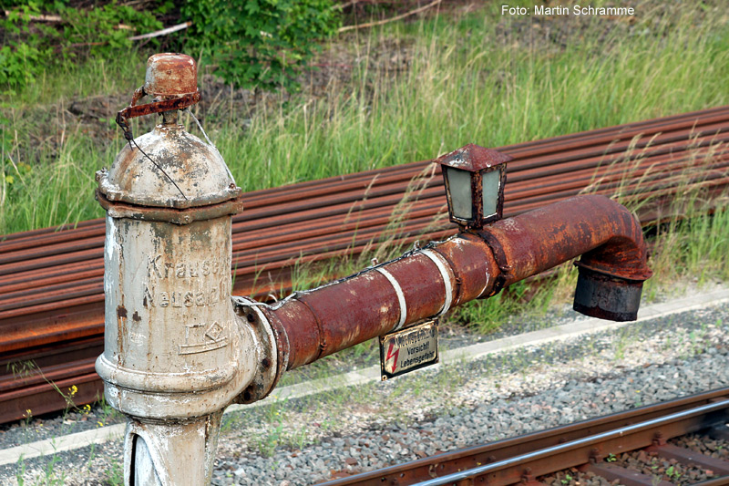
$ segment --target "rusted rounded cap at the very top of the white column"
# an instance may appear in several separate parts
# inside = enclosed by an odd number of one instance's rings
[[[164,52],[147,60],[144,91],[152,97],[175,98],[198,90],[198,65],[187,54]]]

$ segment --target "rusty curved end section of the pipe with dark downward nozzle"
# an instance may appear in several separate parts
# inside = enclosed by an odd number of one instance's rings
[[[604,196],[577,196],[484,228],[502,286],[581,256],[574,308],[613,321],[635,320],[652,275],[640,222]]]

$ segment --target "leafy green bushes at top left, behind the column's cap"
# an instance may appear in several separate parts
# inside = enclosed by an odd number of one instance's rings
[[[116,0],[93,8],[69,2],[5,2],[0,91],[12,94],[60,61],[128,49],[128,36],[162,28],[157,16],[173,7],[166,0],[143,12]],[[59,20],[39,21],[41,16]],[[205,53],[225,80],[247,88],[295,88],[296,73],[316,48],[313,41],[336,32],[339,10],[332,0],[185,0],[179,20],[193,25],[186,42],[175,47]]]

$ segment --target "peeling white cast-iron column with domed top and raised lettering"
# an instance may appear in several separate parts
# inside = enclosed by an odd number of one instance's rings
[[[262,356],[272,357],[277,369],[275,338],[258,309],[270,345],[231,305],[231,216],[184,225],[113,217],[118,201],[205,206],[240,193],[218,150],[181,126],[158,126],[136,141],[159,165],[125,146],[111,169],[98,173],[99,190],[112,206],[104,250],[105,350],[97,371],[108,403],[129,417],[127,480],[135,438],[143,438],[136,464],[152,481],[145,483],[204,484],[222,410],[262,373]]]

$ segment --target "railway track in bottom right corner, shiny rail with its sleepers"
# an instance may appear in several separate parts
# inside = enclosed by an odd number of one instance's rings
[[[545,484],[545,476],[571,471],[590,473],[618,484],[669,486],[678,480],[681,468],[703,470],[710,480],[702,484],[729,484],[729,460],[720,460],[680,447],[671,439],[699,433],[729,440],[729,388],[680,398],[657,405],[634,408],[485,445],[455,450],[422,460],[375,470],[335,481],[327,486],[364,485],[508,485]],[[696,439],[693,439],[695,442]],[[684,441],[685,442],[685,441]],[[628,452],[649,464],[668,462],[652,474],[628,469]],[[657,458],[649,460],[649,458]],[[670,467],[670,466],[669,466]],[[651,470],[649,468],[649,470]],[[666,474],[666,471],[669,471]],[[569,475],[562,474],[565,478]],[[561,484],[573,484],[560,480]],[[579,483],[579,482],[578,482]],[[685,482],[683,482],[685,483]]]

